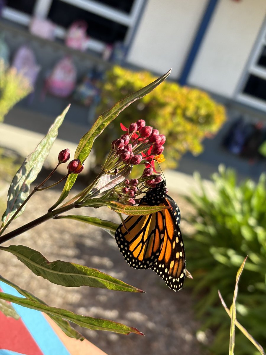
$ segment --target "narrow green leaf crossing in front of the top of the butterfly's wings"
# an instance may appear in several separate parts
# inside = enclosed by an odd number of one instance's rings
[[[116,201],[106,201],[100,198],[90,198],[86,202],[79,204],[79,207],[107,206],[115,212],[124,213],[129,216],[144,216],[147,214],[163,211],[168,206],[129,206]]]

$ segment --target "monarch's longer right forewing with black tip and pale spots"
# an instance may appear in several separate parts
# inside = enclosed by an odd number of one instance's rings
[[[180,224],[180,211],[170,196],[166,196],[165,205],[165,235],[158,261],[151,266],[167,284],[168,287],[181,290],[185,278],[185,250],[182,240]]]

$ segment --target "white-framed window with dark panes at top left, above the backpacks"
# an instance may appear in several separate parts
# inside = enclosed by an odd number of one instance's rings
[[[54,22],[56,36],[64,38],[76,20],[88,23],[89,48],[101,52],[105,44],[128,45],[146,0],[7,0],[2,17],[28,26],[32,16]]]

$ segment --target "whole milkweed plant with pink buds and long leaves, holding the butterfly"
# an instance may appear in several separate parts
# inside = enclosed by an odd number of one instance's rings
[[[83,171],[84,162],[92,151],[94,140],[110,122],[117,118],[122,110],[135,100],[150,93],[169,74],[170,71],[141,90],[123,98],[111,109],[101,114],[92,128],[79,141],[74,159],[70,161],[70,150],[63,149],[59,152],[58,164],[54,170],[51,171],[44,181],[34,186],[31,191],[30,185],[36,179],[49,154],[50,148],[56,139],[58,129],[70,107],[68,105],[63,113],[56,118],[54,124],[50,127],[47,135],[38,144],[37,148],[24,160],[11,182],[7,196],[7,208],[2,215],[0,229],[1,251],[13,254],[31,269],[32,272],[55,284],[71,287],[85,285],[115,291],[143,292],[97,269],[59,260],[51,262],[46,260],[40,252],[29,247],[23,245],[2,246],[2,244],[49,219],[61,218],[74,218],[81,222],[97,225],[107,230],[112,236],[115,235],[118,224],[89,217],[88,215],[66,214],[73,208],[107,206],[120,216],[121,213],[127,215],[148,215],[165,209],[164,206],[138,206],[139,195],[153,189],[162,181],[160,174],[154,168],[154,162],[161,163],[164,161],[162,152],[166,140],[166,137],[160,134],[158,130],[151,126],[146,126],[144,120],[138,120],[129,125],[129,127],[121,124],[121,133],[123,134],[121,137],[117,137],[117,139],[110,142],[110,151],[107,154],[105,162],[102,164],[98,176],[76,196],[70,200],[67,197],[77,179],[77,175]],[[54,184],[49,184],[52,174],[59,165],[64,163],[68,163],[66,164],[66,175]],[[142,165],[143,173],[138,179],[128,179],[128,175],[134,169],[135,165]],[[65,181],[65,185],[63,186],[61,195],[57,202],[49,208],[47,213],[15,230],[9,231],[7,229],[15,218],[21,216],[26,208],[26,204],[34,193],[45,193],[45,190],[60,184],[62,181]],[[5,302],[5,307],[1,307],[0,310],[6,314],[10,314],[10,311],[15,312],[9,302],[42,311],[51,317],[68,336],[80,340],[83,340],[82,335],[73,329],[68,321],[93,330],[108,330],[121,334],[131,332],[142,334],[138,329],[121,323],[82,316],[65,309],[52,307],[28,291],[13,284],[10,280],[3,278],[1,275],[0,281],[14,287],[22,295],[22,297],[17,297],[0,292],[0,300],[1,302]]]

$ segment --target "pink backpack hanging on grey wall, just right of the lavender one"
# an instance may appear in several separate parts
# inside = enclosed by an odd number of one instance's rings
[[[68,97],[76,86],[77,69],[68,56],[59,60],[45,81],[45,92],[57,97]]]

